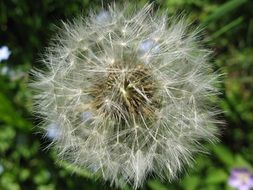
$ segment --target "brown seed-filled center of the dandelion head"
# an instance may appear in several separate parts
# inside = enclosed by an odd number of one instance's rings
[[[154,117],[159,107],[157,83],[144,64],[114,63],[93,86],[92,107],[97,113],[112,119],[143,119]]]

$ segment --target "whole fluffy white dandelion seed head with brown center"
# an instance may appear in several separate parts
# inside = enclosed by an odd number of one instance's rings
[[[61,158],[134,188],[149,174],[176,178],[218,132],[218,75],[198,31],[151,9],[64,23],[33,71],[36,113],[58,127]]]

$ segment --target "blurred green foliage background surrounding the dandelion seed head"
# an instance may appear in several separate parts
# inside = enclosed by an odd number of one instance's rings
[[[56,162],[50,140],[38,133],[32,117],[29,70],[41,67],[40,53],[61,20],[93,10],[110,1],[0,1],[0,46],[12,51],[0,63],[0,189],[112,189],[86,171]],[[123,2],[117,1],[117,2]],[[130,1],[141,6],[147,1]],[[196,162],[180,180],[160,182],[150,177],[143,189],[230,189],[229,172],[234,167],[253,169],[253,2],[251,0],[157,0],[154,5],[168,15],[187,13],[194,24],[205,27],[206,45],[213,49],[213,64],[225,73],[221,83],[221,142],[209,145],[208,155]],[[56,26],[55,26],[56,25]],[[126,187],[126,189],[130,189]]]

